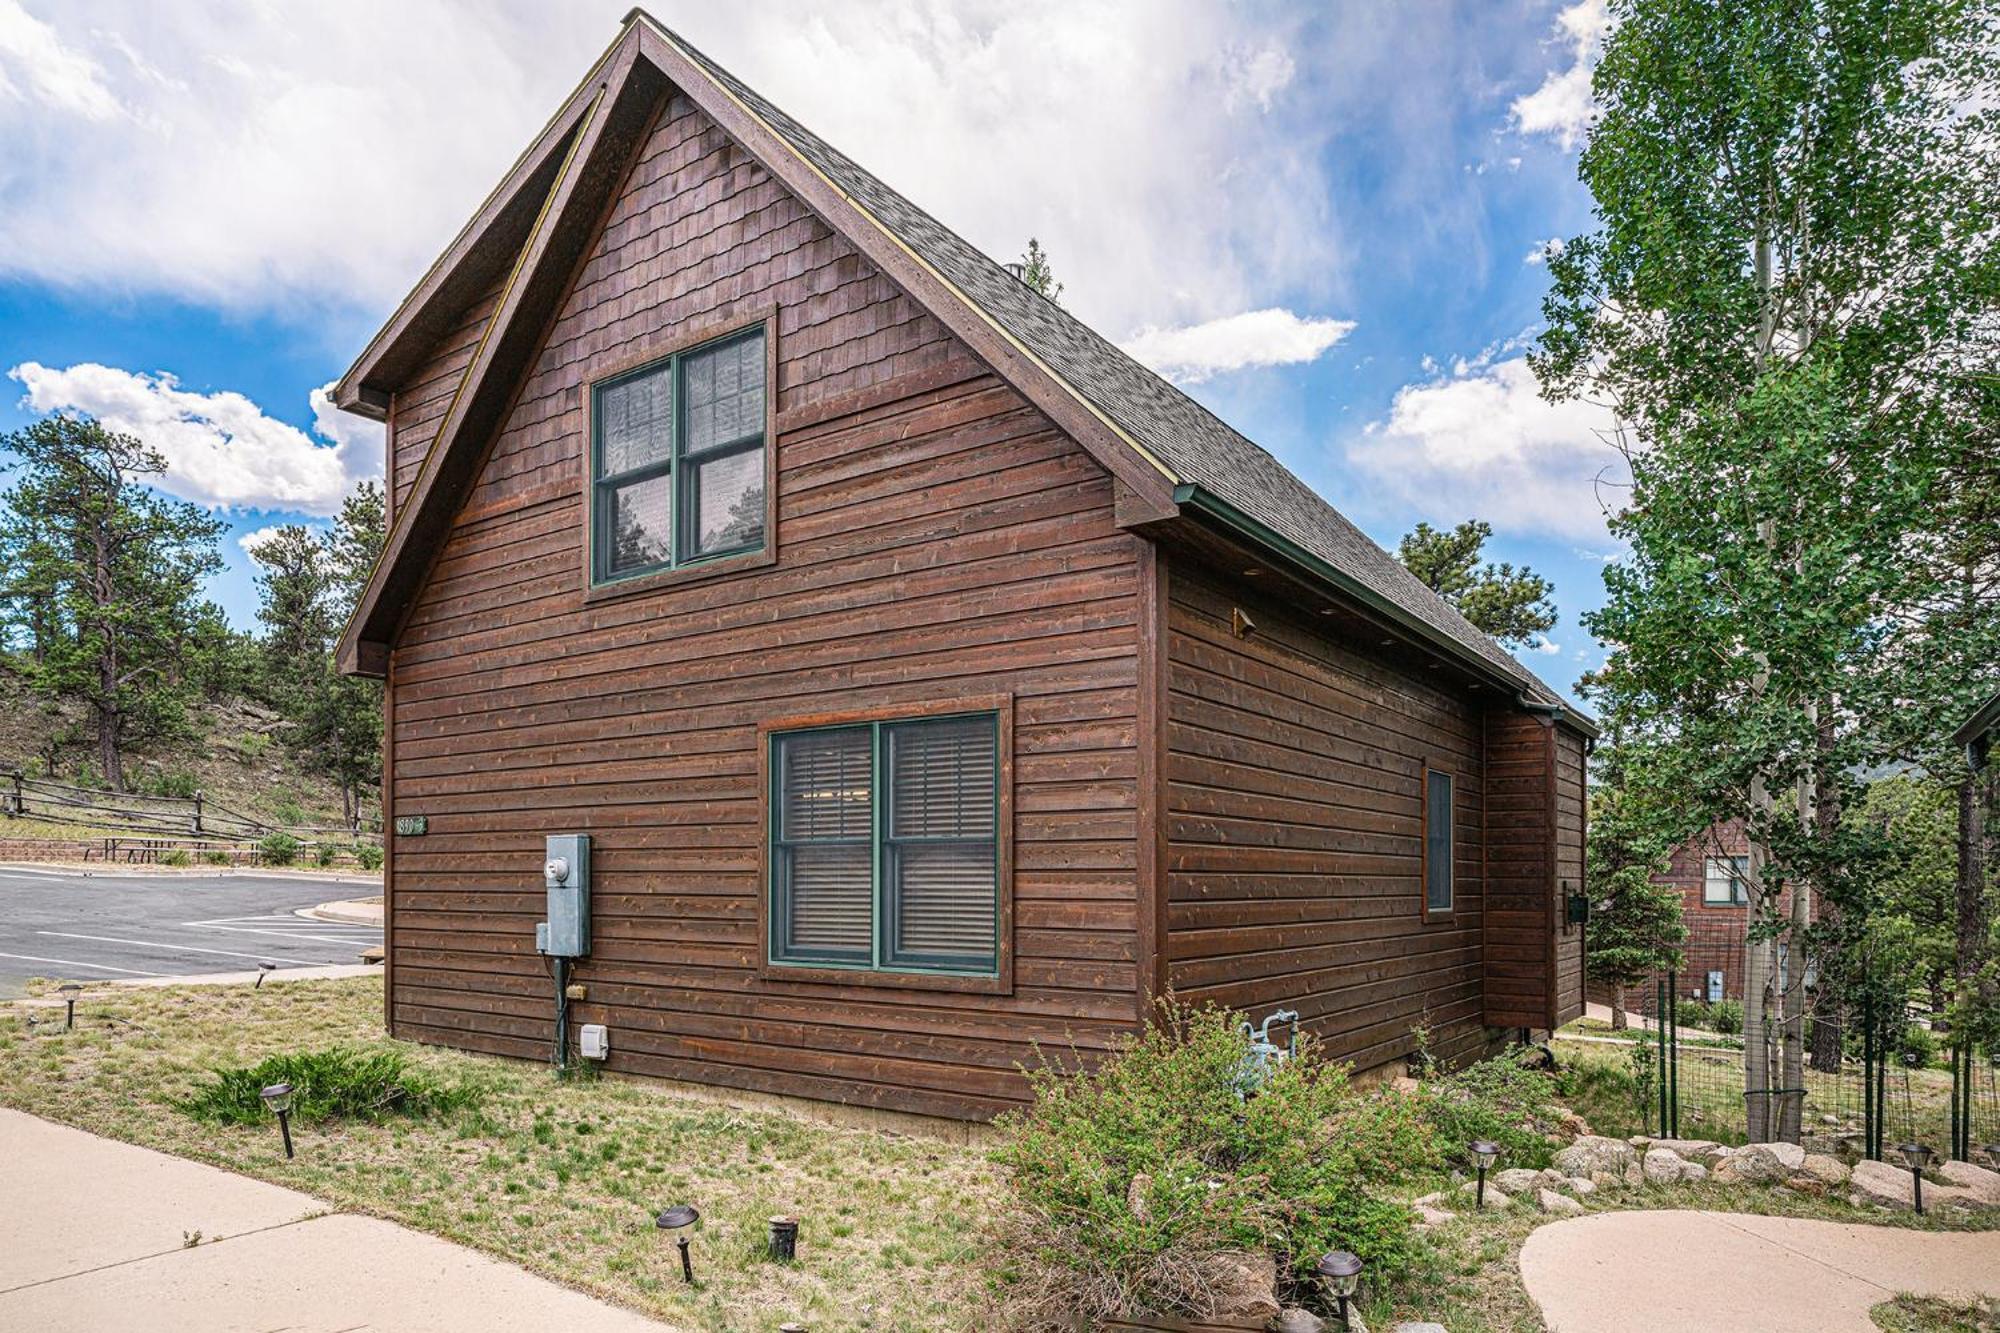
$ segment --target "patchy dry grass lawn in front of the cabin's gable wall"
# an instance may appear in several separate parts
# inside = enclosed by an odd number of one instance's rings
[[[26,1015],[40,1027],[30,1029]],[[50,1023],[50,1017],[56,1021]],[[474,1245],[696,1329],[980,1327],[978,1229],[996,1177],[978,1149],[736,1111],[616,1079],[388,1041],[380,979],[116,989],[60,1011],[0,1007],[0,1105],[290,1185]],[[436,1121],[216,1127],[172,1109],[218,1065],[334,1045],[398,1049],[480,1105]],[[702,1209],[696,1287],[652,1217]],[[764,1257],[802,1217],[800,1259]]]

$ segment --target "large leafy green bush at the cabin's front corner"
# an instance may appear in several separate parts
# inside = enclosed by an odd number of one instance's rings
[[[1328,1249],[1408,1269],[1414,1219],[1386,1187],[1440,1167],[1420,1103],[1354,1091],[1304,1039],[1240,1101],[1242,1059],[1232,1015],[1170,1005],[1092,1073],[1028,1075],[1034,1105],[994,1153],[1016,1199],[994,1223],[1012,1327],[1210,1315],[1228,1251],[1274,1253],[1292,1291]]]

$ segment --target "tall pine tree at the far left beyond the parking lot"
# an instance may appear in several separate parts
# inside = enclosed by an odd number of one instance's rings
[[[96,763],[124,787],[124,753],[186,735],[202,689],[202,582],[222,566],[222,520],[152,482],[166,462],[84,416],[44,416],[0,436],[14,484],[0,494],[0,642],[30,685],[80,705]]]

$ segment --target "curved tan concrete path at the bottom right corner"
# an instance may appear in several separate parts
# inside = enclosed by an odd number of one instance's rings
[[[2000,1295],[2000,1231],[1594,1213],[1530,1235],[1520,1275],[1550,1333],[1878,1333],[1868,1309],[1900,1291]]]

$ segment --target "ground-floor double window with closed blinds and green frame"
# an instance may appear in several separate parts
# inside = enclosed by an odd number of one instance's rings
[[[998,963],[1000,719],[772,737],[772,963],[980,973]]]

